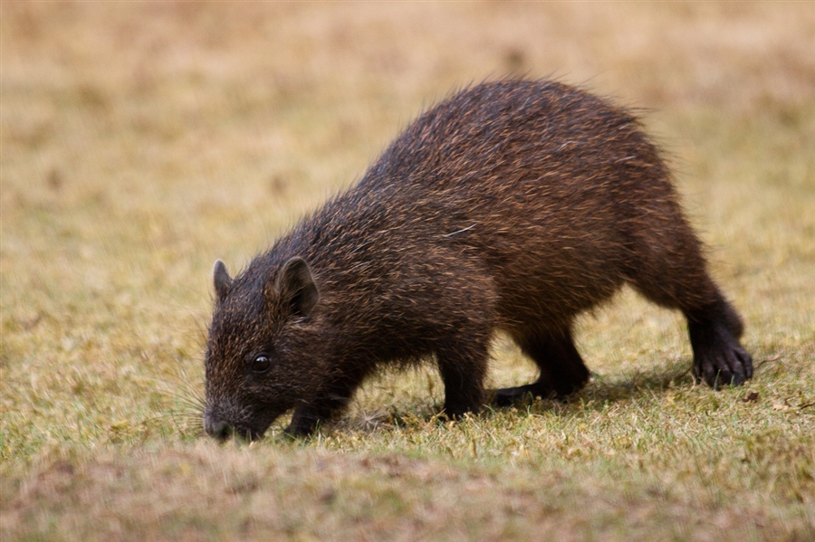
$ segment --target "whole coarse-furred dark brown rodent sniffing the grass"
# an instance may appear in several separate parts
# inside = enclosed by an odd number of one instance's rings
[[[430,357],[446,414],[477,412],[496,328],[541,376],[495,404],[569,395],[589,379],[574,319],[625,283],[685,314],[696,378],[753,376],[638,119],[558,82],[477,85],[234,279],[216,264],[206,432],[259,438],[294,409],[287,431],[312,433],[378,367]]]

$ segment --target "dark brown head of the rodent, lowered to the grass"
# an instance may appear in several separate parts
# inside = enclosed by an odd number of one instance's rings
[[[320,292],[302,258],[277,269],[214,271],[216,309],[206,344],[206,433],[259,439],[321,382]],[[321,359],[322,358],[322,359]]]

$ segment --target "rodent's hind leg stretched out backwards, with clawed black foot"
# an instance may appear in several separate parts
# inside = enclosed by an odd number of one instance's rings
[[[643,242],[631,282],[649,300],[685,314],[697,382],[715,389],[742,385],[753,377],[753,358],[739,344],[742,319],[708,275],[700,243],[684,220],[673,233],[651,233]]]

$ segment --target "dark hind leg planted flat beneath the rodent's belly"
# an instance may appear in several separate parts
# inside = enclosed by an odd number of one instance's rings
[[[574,347],[569,328],[527,332],[517,340],[523,353],[541,369],[541,376],[532,384],[495,390],[496,406],[509,406],[527,395],[562,399],[589,381],[589,369]]]

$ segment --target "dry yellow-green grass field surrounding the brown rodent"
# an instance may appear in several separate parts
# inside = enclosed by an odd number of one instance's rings
[[[807,3],[0,5],[0,538],[815,539],[815,9]],[[647,109],[756,374],[689,375],[625,292],[567,404],[434,418],[432,367],[307,442],[202,437],[231,270],[473,81]],[[531,364],[496,338],[491,385]]]

